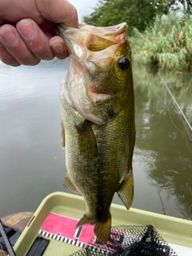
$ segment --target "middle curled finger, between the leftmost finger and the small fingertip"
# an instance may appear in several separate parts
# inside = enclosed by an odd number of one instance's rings
[[[43,60],[54,58],[54,53],[50,49],[49,39],[36,22],[30,18],[25,18],[19,21],[16,27],[27,48],[36,58]]]

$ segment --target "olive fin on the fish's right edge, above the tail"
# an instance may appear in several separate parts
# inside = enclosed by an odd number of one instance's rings
[[[121,198],[127,210],[130,209],[134,200],[134,175],[132,169],[130,169],[129,174],[126,181],[122,183],[122,186],[117,191],[118,197]]]

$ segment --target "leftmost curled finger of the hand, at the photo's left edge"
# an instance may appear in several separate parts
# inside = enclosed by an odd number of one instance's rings
[[[37,65],[40,60],[31,54],[14,26],[0,27],[0,42],[7,52],[23,65]]]

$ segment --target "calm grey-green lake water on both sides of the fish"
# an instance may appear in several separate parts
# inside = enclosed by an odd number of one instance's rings
[[[34,211],[62,188],[58,90],[66,61],[17,68],[0,62],[0,217]],[[191,74],[162,74],[192,124]],[[134,65],[136,146],[133,207],[191,219],[192,143],[161,78]],[[117,195],[114,202],[122,204]]]

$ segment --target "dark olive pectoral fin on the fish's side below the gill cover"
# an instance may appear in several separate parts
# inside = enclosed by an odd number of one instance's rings
[[[98,146],[90,123],[85,121],[75,127],[78,131],[78,147],[81,154],[86,158],[96,158],[98,156]]]

